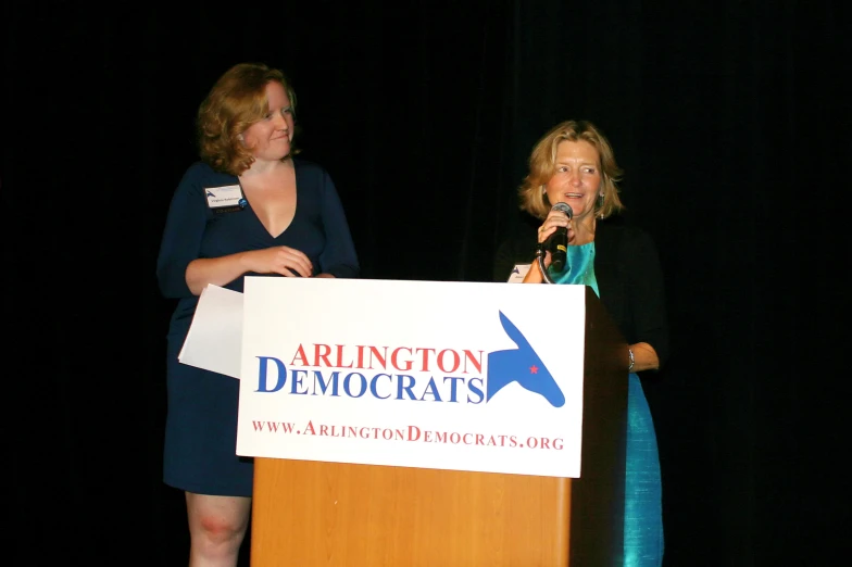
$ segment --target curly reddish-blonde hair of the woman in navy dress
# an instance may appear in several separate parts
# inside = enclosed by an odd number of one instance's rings
[[[263,63],[239,63],[216,80],[198,109],[201,159],[218,172],[240,175],[254,162],[240,135],[270,111],[266,86],[278,83],[296,111],[296,92],[277,68]],[[293,149],[293,154],[299,153]]]

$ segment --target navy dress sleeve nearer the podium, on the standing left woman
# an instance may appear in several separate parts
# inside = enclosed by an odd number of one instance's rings
[[[320,254],[320,273],[331,274],[337,278],[356,278],[361,267],[355,254],[352,235],[349,232],[343,204],[328,173],[323,172],[323,229],[325,248]]]

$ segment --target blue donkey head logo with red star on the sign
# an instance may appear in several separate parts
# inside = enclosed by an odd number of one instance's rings
[[[553,407],[565,405],[565,394],[553,376],[544,368],[541,358],[524,335],[500,312],[500,323],[517,349],[494,351],[488,354],[488,387],[486,401],[510,382],[517,382],[526,390],[541,394]]]

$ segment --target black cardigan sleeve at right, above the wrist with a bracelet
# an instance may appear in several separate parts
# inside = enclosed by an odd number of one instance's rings
[[[629,266],[627,286],[630,342],[647,342],[656,351],[662,368],[668,360],[668,318],[665,282],[660,255],[650,235],[637,230],[623,244],[623,261]]]

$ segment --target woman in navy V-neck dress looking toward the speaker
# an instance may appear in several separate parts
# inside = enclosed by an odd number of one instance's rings
[[[359,276],[328,173],[295,156],[296,94],[278,70],[239,64],[198,112],[201,161],[184,174],[163,231],[156,276],[177,299],[167,335],[163,480],[186,494],[191,566],[237,565],[253,464],[236,454],[239,382],[177,355],[210,284],[242,291],[251,276]]]

